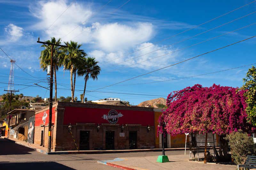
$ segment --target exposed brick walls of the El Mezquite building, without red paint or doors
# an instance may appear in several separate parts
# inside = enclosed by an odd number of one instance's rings
[[[55,122],[52,126],[52,149],[53,151],[67,151],[67,150],[80,150],[80,132],[89,131],[89,150],[96,149],[106,149],[106,131],[114,132],[114,149],[129,149],[129,132],[137,132],[137,148],[154,148],[155,146],[155,127],[151,127],[150,131],[146,126],[141,126],[138,124],[127,124],[124,125],[124,137],[120,137],[121,124],[100,124],[100,130],[97,132],[96,123],[76,123],[71,124],[73,137],[70,132],[68,132],[69,125],[63,125],[65,118],[65,107],[93,107],[102,108],[102,105],[84,104],[84,103],[71,103],[71,102],[57,102],[53,104],[55,107]],[[104,105],[104,108],[113,109],[113,106]],[[141,108],[141,107],[119,107],[115,106],[114,109],[126,109],[126,110],[141,110],[141,111],[151,111],[151,108]],[[44,108],[45,109],[45,108]],[[37,111],[37,113],[42,112],[44,109]],[[74,113],[75,114],[75,113]],[[74,115],[75,116],[75,115]],[[41,144],[41,131],[44,131],[43,145],[48,147],[48,125],[41,125],[35,127],[35,144]]]

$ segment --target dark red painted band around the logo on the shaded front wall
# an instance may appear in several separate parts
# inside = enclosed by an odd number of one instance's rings
[[[103,115],[108,115],[111,109],[100,108],[81,108],[81,107],[65,107],[64,125],[69,123],[108,123],[108,120],[103,119]],[[155,126],[154,111],[134,111],[134,110],[118,110],[114,109],[122,117],[118,118],[115,124],[141,124],[142,126]]]

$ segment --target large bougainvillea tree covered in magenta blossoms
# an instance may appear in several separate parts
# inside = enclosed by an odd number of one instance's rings
[[[168,108],[159,118],[158,133],[167,132],[172,136],[217,133],[220,135],[218,156],[221,161],[228,160],[228,141],[224,137],[238,129],[252,130],[246,121],[244,91],[236,93],[236,90],[215,84],[209,88],[197,84],[172,92],[167,98]]]

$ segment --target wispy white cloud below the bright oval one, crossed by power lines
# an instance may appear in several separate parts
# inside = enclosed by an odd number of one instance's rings
[[[176,56],[178,52],[172,53],[173,51],[175,51],[172,49],[172,47],[167,47],[163,49],[160,49],[160,48],[163,48],[163,46],[153,45],[152,43],[145,42],[145,43],[139,44],[136,48],[133,49],[133,51],[137,51],[139,49],[141,50],[139,50],[138,52],[132,53],[130,55],[126,55],[129,53],[129,51],[117,51],[112,53],[105,53],[102,50],[94,50],[92,52],[89,52],[88,55],[95,57],[96,60],[100,61],[100,64],[113,60],[108,63],[108,66],[117,64],[113,67],[120,68],[120,67],[130,66],[134,64],[131,67],[133,68],[138,67],[145,70],[163,68],[165,66],[170,65],[170,63],[177,61]],[[152,51],[155,51],[155,52],[152,52]],[[171,53],[171,54],[168,54],[168,53]],[[155,59],[152,59],[152,58],[155,58]],[[102,66],[102,68],[104,67],[106,67],[106,65]],[[113,67],[111,67],[111,69],[113,69]]]

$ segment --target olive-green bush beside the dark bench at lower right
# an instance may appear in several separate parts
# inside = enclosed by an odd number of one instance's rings
[[[229,140],[231,156],[235,160],[236,165],[244,164],[247,155],[256,155],[256,144],[254,144],[253,139],[249,137],[247,133],[243,133],[242,130],[232,132],[225,137],[225,139]]]

